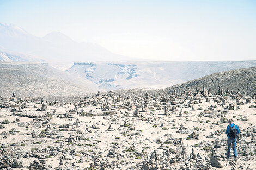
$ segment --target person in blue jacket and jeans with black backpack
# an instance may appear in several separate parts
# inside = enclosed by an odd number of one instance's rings
[[[239,128],[237,125],[233,123],[232,119],[228,120],[229,125],[227,126],[226,129],[226,134],[228,135],[228,151],[227,151],[227,159],[230,157],[230,147],[232,144],[232,148],[234,151],[234,156],[235,156],[235,161],[237,160],[237,152],[236,152],[236,138],[237,135],[240,134]]]

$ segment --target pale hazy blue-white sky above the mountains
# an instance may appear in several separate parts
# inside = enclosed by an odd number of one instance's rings
[[[158,60],[255,60],[256,1],[0,0],[0,22]]]

